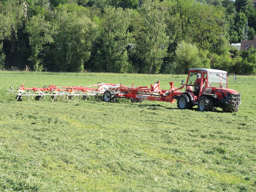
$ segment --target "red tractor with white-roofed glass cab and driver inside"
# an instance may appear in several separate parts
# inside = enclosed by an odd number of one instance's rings
[[[219,107],[225,112],[237,112],[241,104],[241,94],[227,87],[226,71],[190,69],[187,82],[182,85],[186,91],[176,96],[178,109],[192,109],[198,105],[198,111]]]

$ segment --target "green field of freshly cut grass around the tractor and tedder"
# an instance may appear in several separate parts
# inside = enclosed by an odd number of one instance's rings
[[[256,191],[256,76],[229,79],[237,113],[157,101],[22,102],[6,88],[161,86],[186,75],[0,71],[0,191]],[[168,87],[161,87],[168,89]]]

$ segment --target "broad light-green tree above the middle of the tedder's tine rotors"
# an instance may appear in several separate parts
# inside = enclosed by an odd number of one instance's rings
[[[54,20],[55,62],[60,71],[84,70],[84,62],[90,58],[91,41],[97,36],[97,25],[78,5],[59,5]]]

